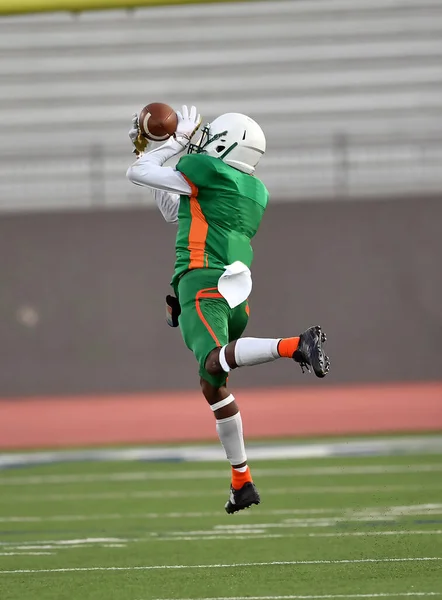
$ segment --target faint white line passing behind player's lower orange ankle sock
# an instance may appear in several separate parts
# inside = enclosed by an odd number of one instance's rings
[[[423,465],[360,465],[333,467],[286,467],[286,468],[254,468],[256,477],[310,477],[330,475],[383,475],[390,473],[439,473],[442,464]],[[0,485],[47,485],[59,483],[98,483],[108,481],[153,481],[191,479],[221,479],[226,471],[212,469],[210,471],[133,471],[122,473],[88,473],[83,475],[28,475],[24,477],[0,477]]]

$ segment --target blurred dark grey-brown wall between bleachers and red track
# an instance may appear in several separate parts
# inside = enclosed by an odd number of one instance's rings
[[[247,333],[328,333],[329,383],[442,378],[442,198],[273,204]],[[175,229],[150,209],[0,218],[0,397],[195,389],[164,322]],[[235,386],[311,385],[279,361]]]

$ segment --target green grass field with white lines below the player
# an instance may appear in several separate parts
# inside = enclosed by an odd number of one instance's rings
[[[441,455],[0,472],[1,600],[442,596]]]

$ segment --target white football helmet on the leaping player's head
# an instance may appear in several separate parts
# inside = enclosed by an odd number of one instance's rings
[[[261,127],[246,115],[226,113],[202,128],[196,144],[188,152],[203,153],[252,175],[266,151],[266,139]]]

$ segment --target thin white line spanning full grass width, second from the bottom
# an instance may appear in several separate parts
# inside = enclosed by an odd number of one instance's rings
[[[271,562],[228,563],[209,565],[146,565],[133,567],[64,567],[59,569],[13,569],[0,570],[0,575],[14,573],[75,573],[84,571],[168,571],[178,569],[236,569],[237,567],[273,567],[295,565],[344,565],[361,563],[432,562],[442,560],[442,556],[416,556],[406,558],[352,558],[343,560],[276,560]]]

